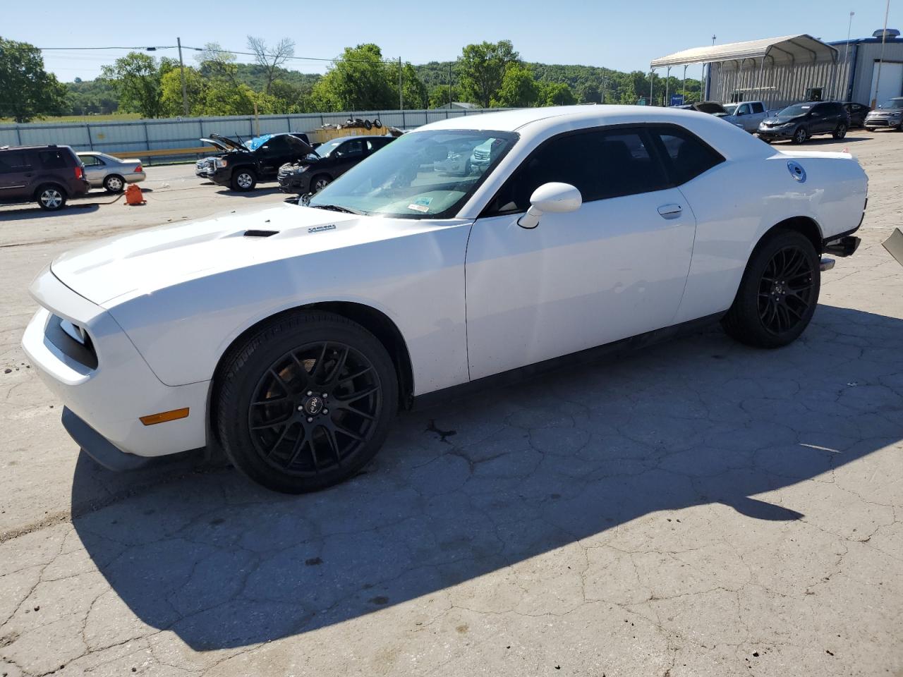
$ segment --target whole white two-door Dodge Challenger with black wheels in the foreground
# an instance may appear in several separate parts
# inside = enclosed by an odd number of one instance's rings
[[[436,171],[464,146],[470,172]],[[309,491],[364,466],[420,395],[698,320],[786,345],[822,255],[858,246],[867,188],[847,153],[778,152],[692,111],[456,117],[308,206],[61,255],[23,347],[107,467],[215,444]]]

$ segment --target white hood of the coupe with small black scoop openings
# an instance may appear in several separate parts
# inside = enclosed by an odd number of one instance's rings
[[[109,308],[207,275],[454,223],[284,204],[100,240],[59,256],[51,271],[88,301]]]

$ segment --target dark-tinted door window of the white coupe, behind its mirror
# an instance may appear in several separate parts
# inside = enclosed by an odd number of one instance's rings
[[[668,183],[642,130],[565,134],[535,150],[505,182],[486,213],[526,211],[533,191],[550,181],[575,186],[584,202],[662,190]]]

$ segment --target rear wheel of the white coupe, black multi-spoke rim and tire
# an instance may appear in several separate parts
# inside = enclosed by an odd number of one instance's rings
[[[819,256],[806,236],[778,231],[756,247],[721,326],[757,348],[792,343],[812,320],[821,285]]]

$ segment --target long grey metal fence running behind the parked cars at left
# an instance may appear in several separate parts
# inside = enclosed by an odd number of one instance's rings
[[[88,123],[33,123],[0,125],[0,146],[70,145],[77,151],[129,153],[201,148],[200,139],[213,132],[248,139],[260,134],[312,132],[322,125],[339,125],[355,117],[374,120],[384,127],[411,129],[449,117],[505,110],[504,108],[436,108],[433,110],[367,110],[342,113],[301,113],[284,116],[174,117],[156,120]],[[159,153],[154,153],[159,155]]]

